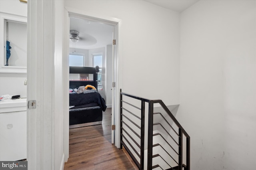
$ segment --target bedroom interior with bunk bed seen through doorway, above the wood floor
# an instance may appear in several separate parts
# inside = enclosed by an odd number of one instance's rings
[[[101,124],[102,111],[112,107],[114,31],[115,27],[108,22],[70,14],[70,128]],[[93,89],[87,89],[88,86]],[[93,93],[94,89],[100,96]],[[96,105],[99,109],[95,108]]]

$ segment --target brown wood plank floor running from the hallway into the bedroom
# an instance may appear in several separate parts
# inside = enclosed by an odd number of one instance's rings
[[[127,154],[111,144],[111,108],[102,125],[69,131],[69,158],[64,170],[135,170]]]

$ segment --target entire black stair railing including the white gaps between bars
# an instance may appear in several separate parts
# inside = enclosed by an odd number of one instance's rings
[[[190,170],[190,136],[162,100],[120,89],[120,143],[140,170]]]

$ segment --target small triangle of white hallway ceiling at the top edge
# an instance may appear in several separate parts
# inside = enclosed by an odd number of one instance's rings
[[[188,7],[198,2],[199,0],[144,0],[144,1],[150,2],[157,6],[161,6],[163,8],[167,8],[177,12],[182,12],[186,10]]]

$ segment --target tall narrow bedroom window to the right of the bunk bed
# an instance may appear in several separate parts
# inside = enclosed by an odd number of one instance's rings
[[[97,53],[92,55],[93,67],[97,65],[100,67],[98,72],[98,90],[102,90],[102,53]]]

